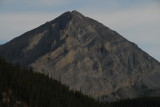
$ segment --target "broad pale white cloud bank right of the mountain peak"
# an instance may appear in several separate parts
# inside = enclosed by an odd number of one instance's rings
[[[143,36],[151,34],[157,37],[160,34],[160,7],[156,4],[148,4],[129,8],[127,10],[118,11],[99,11],[92,12],[83,11],[86,15],[102,22],[104,25],[120,31],[122,34],[125,32],[138,33]],[[135,35],[136,37],[136,35]],[[159,37],[159,36],[158,36]],[[136,39],[136,38],[134,38]],[[145,38],[147,39],[147,38]],[[148,41],[148,40],[147,40]]]

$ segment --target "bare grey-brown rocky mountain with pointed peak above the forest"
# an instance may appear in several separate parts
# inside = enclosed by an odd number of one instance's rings
[[[160,63],[77,11],[1,45],[0,55],[94,98],[160,96]]]

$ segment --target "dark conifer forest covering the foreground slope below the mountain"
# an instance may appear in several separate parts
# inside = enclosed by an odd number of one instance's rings
[[[160,107],[160,97],[102,103],[0,58],[0,107]]]

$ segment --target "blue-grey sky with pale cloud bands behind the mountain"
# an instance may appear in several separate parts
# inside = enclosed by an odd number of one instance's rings
[[[160,61],[160,0],[0,0],[0,44],[73,10]]]

